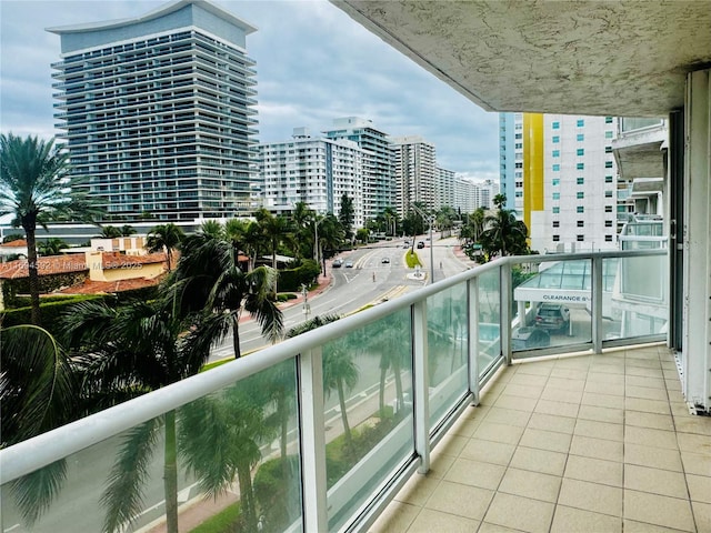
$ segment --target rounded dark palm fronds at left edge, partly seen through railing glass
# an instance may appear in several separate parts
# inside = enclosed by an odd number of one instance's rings
[[[36,325],[0,330],[0,447],[7,447],[79,418],[77,381],[66,352]],[[67,463],[58,461],[11,485],[18,509],[32,524],[49,509],[64,481]]]

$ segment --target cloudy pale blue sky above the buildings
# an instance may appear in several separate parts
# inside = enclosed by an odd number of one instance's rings
[[[146,14],[167,2],[0,0],[0,131],[51,138],[51,63],[60,38],[46,28]],[[256,26],[259,142],[311,134],[333,119],[362,117],[391,135],[434,143],[438,165],[470,179],[499,179],[497,113],[483,111],[321,0],[214,0]]]

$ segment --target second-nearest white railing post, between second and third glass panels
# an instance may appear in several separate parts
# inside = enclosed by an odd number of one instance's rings
[[[412,304],[412,349],[414,354],[414,451],[420,456],[418,472],[430,470],[430,375],[428,370],[427,299]]]

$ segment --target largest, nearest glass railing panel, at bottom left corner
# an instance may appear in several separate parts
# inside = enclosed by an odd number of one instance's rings
[[[31,489],[40,476],[47,482],[51,471],[66,471],[33,524],[3,485],[3,531],[137,531],[166,521],[167,500],[181,529],[194,516],[220,520],[230,531],[301,529],[296,421],[290,360],[19,480]],[[171,455],[173,483],[163,481]],[[29,497],[37,510],[37,493]]]

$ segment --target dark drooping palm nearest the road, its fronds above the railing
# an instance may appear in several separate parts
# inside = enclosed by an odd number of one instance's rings
[[[282,313],[269,298],[277,272],[260,266],[250,272],[240,269],[238,253],[227,239],[206,233],[183,241],[176,269],[173,291],[182,314],[209,310],[232,330],[234,356],[241,356],[239,320],[249,312],[260,324],[262,334],[276,342],[283,329]]]

